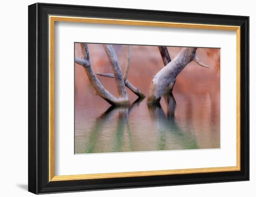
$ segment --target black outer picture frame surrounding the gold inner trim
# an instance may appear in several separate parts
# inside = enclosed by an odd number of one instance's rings
[[[241,27],[241,170],[49,182],[48,15]],[[35,194],[249,180],[249,17],[35,3],[28,6],[28,191]]]

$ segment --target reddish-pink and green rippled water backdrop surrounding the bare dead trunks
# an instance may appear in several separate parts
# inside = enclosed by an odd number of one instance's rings
[[[181,49],[168,47],[171,58]],[[89,44],[89,50],[94,71],[111,72],[102,46]],[[123,69],[126,47],[117,45],[115,50]],[[75,153],[220,148],[220,51],[204,48],[196,53],[210,68],[190,63],[177,77],[173,94],[154,106],[128,90],[131,106],[111,107],[94,95],[84,70],[75,64]],[[79,44],[75,44],[75,55],[81,57]],[[162,67],[157,47],[131,47],[128,79],[144,94]],[[99,79],[118,95],[114,79]]]

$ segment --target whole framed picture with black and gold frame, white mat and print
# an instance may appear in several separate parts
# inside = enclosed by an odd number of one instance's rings
[[[28,191],[249,180],[249,17],[28,6]]]

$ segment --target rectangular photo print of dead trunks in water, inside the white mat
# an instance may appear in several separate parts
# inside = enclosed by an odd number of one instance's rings
[[[220,51],[74,43],[74,153],[221,148]]]

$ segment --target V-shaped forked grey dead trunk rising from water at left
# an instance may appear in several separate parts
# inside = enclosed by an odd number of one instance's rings
[[[114,95],[112,95],[108,90],[106,90],[97,76],[94,73],[94,70],[91,66],[90,61],[90,55],[88,50],[88,45],[82,43],[81,44],[81,50],[82,50],[82,57],[77,58],[75,57],[75,62],[77,64],[80,64],[83,66],[84,70],[86,71],[86,74],[88,76],[89,82],[93,86],[95,90],[95,94],[101,96],[104,100],[106,100],[111,105],[120,106],[120,105],[129,105],[128,95],[126,92],[126,88],[123,81],[122,72],[119,66],[118,59],[116,57],[115,51],[112,47],[112,45],[104,44],[103,45],[107,55],[108,59],[111,63],[112,69],[114,71],[115,76],[115,82],[118,89],[118,93],[120,95],[119,98],[116,98]]]

